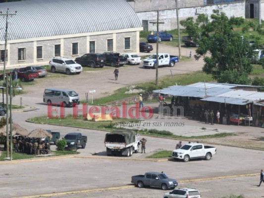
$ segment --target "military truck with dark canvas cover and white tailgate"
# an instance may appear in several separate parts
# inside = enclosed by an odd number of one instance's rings
[[[133,130],[117,130],[106,134],[106,155],[132,156],[139,151],[139,134]]]

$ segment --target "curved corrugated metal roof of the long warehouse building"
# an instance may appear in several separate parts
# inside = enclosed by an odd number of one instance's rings
[[[23,0],[1,3],[9,17],[8,40],[142,27],[125,0]],[[4,41],[5,17],[0,17]]]

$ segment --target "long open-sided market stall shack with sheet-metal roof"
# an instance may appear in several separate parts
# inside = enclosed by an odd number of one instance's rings
[[[258,92],[258,88],[263,87],[199,82],[188,86],[167,87],[154,92],[173,96],[171,103],[177,108],[183,107],[184,116],[192,116],[193,119],[202,121],[204,111],[213,109],[214,115],[219,110],[221,118],[225,116],[228,121],[235,121],[237,124],[243,121],[246,124],[245,120],[249,119],[248,125],[258,126],[257,107],[253,108],[253,104],[264,100],[264,93]]]

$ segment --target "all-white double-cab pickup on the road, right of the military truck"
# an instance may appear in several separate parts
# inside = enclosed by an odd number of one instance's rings
[[[204,146],[200,143],[186,144],[172,151],[173,158],[182,159],[184,162],[188,162],[190,159],[194,158],[205,158],[206,160],[210,160],[214,154],[216,154],[215,147]]]

